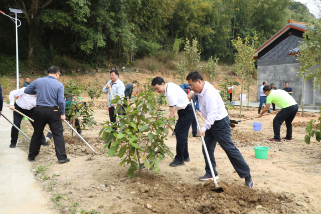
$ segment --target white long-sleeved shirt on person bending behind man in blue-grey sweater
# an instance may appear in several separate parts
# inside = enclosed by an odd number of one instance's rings
[[[25,88],[17,89],[9,94],[10,105],[15,105],[15,97],[19,97],[16,101],[17,105],[25,110],[30,110],[36,107],[37,96],[25,94]]]

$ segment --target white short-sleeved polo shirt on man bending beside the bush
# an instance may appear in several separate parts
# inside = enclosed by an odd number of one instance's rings
[[[186,92],[175,83],[166,84],[164,95],[169,102],[169,106],[175,107],[176,110],[185,109],[191,103]]]

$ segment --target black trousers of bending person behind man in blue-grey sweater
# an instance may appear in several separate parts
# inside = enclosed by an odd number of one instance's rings
[[[25,114],[26,116],[30,117],[31,119],[35,120],[35,108],[32,108],[30,110],[26,110],[23,108],[20,108],[17,103],[15,103],[15,108],[20,111],[21,113]],[[24,118],[24,116],[22,116],[21,114],[19,114],[18,112],[14,111],[14,124],[16,126],[18,126],[18,128],[20,128],[20,124],[21,124],[21,120]],[[31,122],[31,120],[29,120],[29,122],[31,123],[31,125],[34,127],[34,123]],[[11,144],[17,144],[17,140],[18,140],[18,136],[19,136],[19,131],[18,129],[16,129],[14,126],[11,128]],[[46,138],[44,133],[42,134],[42,139],[41,139],[41,144],[44,144],[46,142]]]

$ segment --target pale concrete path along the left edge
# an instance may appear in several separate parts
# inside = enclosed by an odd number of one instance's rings
[[[13,121],[13,112],[4,103],[3,114]],[[6,214],[46,214],[48,196],[30,170],[27,153],[9,148],[12,125],[0,117],[0,210]],[[31,137],[31,136],[29,136]]]

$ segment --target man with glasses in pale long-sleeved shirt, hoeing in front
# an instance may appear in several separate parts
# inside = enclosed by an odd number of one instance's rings
[[[250,168],[232,141],[230,119],[219,93],[209,82],[204,82],[202,75],[197,71],[191,72],[186,80],[194,91],[194,93],[191,92],[188,94],[189,100],[193,99],[194,95],[199,95],[200,111],[206,119],[199,135],[204,137],[215,176],[218,175],[218,172],[215,169],[214,151],[216,142],[218,142],[227,154],[238,175],[241,178],[245,178],[245,185],[252,188],[254,183],[251,178]],[[203,155],[206,173],[199,179],[213,179],[204,147]]]

